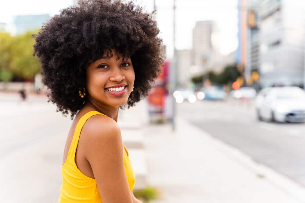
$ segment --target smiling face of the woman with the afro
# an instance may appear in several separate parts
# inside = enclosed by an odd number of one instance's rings
[[[120,107],[127,103],[135,82],[135,71],[131,59],[121,57],[112,49],[113,57],[94,61],[86,69],[87,87],[89,97],[113,107]],[[105,57],[105,58],[104,58]]]

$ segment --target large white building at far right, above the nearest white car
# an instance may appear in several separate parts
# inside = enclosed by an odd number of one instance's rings
[[[298,1],[296,1],[298,2]],[[303,86],[304,4],[260,1],[260,86]]]

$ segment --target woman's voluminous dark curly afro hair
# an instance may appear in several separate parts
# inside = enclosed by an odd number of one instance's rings
[[[155,12],[144,12],[133,1],[79,0],[32,35],[33,56],[41,62],[48,102],[56,104],[56,112],[65,117],[70,113],[73,120],[84,105],[78,91],[86,85],[86,68],[111,49],[130,57],[135,70],[134,91],[123,107],[133,107],[148,95],[165,58]]]

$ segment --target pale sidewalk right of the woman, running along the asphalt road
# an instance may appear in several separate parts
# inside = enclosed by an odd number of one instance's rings
[[[146,126],[149,183],[163,192],[153,203],[304,202],[305,190],[238,150],[177,118]]]

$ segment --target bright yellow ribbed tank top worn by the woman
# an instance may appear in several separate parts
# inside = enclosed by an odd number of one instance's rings
[[[68,151],[68,156],[64,164],[62,164],[62,178],[63,182],[60,187],[59,203],[73,203],[73,202],[92,202],[102,203],[102,199],[99,194],[96,182],[94,178],[84,175],[76,166],[75,152],[85,122],[93,115],[102,114],[98,111],[89,111],[81,117],[75,127],[72,142]],[[106,116],[105,114],[102,114]],[[123,144],[123,143],[122,143]],[[130,191],[135,186],[135,173],[132,169],[131,162],[129,160],[128,151],[123,144],[125,150],[123,150],[124,166]]]

